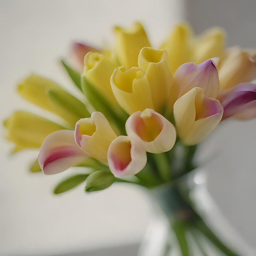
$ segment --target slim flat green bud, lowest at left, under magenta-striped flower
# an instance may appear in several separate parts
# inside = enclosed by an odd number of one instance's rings
[[[54,194],[60,194],[70,189],[73,189],[74,187],[84,182],[87,177],[88,174],[77,174],[72,177],[68,177],[66,180],[63,180],[55,187]]]

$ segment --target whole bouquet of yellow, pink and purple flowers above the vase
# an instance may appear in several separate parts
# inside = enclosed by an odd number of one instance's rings
[[[219,28],[194,36],[181,24],[155,49],[136,23],[115,28],[114,50],[75,44],[82,71],[63,65],[83,100],[30,76],[18,93],[61,125],[19,111],[4,122],[8,139],[15,151],[40,147],[45,174],[90,167],[76,181],[87,179],[87,191],[114,181],[155,186],[179,177],[193,169],[196,145],[220,121],[256,117],[256,54],[225,49],[224,37]],[[124,178],[130,175],[136,176]]]

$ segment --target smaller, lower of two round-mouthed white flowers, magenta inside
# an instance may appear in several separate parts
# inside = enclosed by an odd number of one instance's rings
[[[109,146],[108,166],[115,177],[139,173],[147,162],[146,151],[139,141],[119,136]]]

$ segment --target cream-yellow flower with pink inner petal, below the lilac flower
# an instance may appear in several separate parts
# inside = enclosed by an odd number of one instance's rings
[[[195,87],[173,106],[177,134],[184,144],[198,144],[220,122],[223,108],[216,99],[204,97],[202,88]]]

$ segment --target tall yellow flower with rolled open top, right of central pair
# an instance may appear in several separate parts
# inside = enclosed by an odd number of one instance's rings
[[[165,50],[144,47],[139,53],[138,64],[146,72],[154,109],[162,113],[173,83],[168,54]]]

